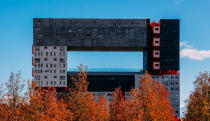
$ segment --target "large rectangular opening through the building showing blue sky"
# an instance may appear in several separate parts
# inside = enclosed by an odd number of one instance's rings
[[[80,64],[88,71],[139,72],[143,69],[143,52],[68,51],[68,71],[78,71]]]

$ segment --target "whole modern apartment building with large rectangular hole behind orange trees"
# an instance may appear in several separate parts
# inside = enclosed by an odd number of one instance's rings
[[[76,73],[67,71],[68,51],[143,52],[142,72],[88,72],[88,89],[110,97],[120,87],[126,96],[148,70],[167,86],[179,116],[179,20],[34,18],[32,76],[37,86],[66,90],[69,75]]]

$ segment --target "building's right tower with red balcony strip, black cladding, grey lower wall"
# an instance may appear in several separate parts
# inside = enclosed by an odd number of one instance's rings
[[[179,20],[151,22],[147,43],[147,70],[170,92],[170,100],[180,115]]]

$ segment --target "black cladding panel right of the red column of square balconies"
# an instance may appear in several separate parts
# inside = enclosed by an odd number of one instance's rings
[[[160,20],[160,70],[179,70],[179,20]]]

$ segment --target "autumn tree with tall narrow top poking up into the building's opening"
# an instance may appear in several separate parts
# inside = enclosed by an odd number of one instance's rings
[[[87,67],[79,67],[80,72],[72,77],[70,95],[68,97],[68,108],[73,113],[73,120],[107,120],[108,111],[106,101],[101,98],[99,102],[95,100],[94,95],[88,92]]]

